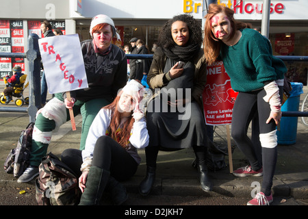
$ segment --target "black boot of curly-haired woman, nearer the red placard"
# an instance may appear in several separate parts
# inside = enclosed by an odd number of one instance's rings
[[[196,155],[196,167],[199,172],[201,188],[205,192],[210,192],[213,189],[211,179],[207,172],[206,156],[207,147],[206,146],[193,146],[194,153]]]

